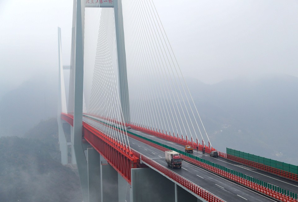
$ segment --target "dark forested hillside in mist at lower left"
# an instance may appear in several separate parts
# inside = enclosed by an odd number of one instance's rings
[[[57,120],[42,121],[26,138],[0,138],[1,202],[81,202],[79,177],[53,160],[58,152]]]

